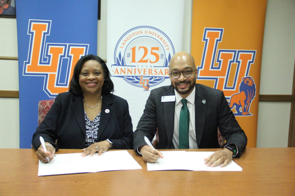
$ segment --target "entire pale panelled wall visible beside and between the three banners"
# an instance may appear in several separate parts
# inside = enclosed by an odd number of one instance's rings
[[[192,1],[185,1],[183,51],[191,50]],[[295,1],[268,0],[259,94],[291,94]],[[106,59],[106,0],[98,21],[98,56]],[[17,56],[16,19],[0,18],[0,56]],[[3,47],[5,46],[5,47]],[[18,64],[0,60],[0,90],[18,90]],[[0,148],[19,148],[19,99],[0,98]],[[287,147],[291,103],[259,102],[257,147]],[[37,126],[37,125],[36,125]],[[136,125],[134,125],[136,126]]]

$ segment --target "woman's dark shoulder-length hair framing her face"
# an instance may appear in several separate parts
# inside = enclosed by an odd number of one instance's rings
[[[79,84],[79,75],[81,73],[82,66],[84,65],[86,61],[89,61],[89,60],[97,61],[103,69],[104,85],[102,86],[101,94],[109,94],[114,92],[114,83],[111,80],[111,74],[109,72],[108,67],[106,66],[106,63],[99,56],[95,56],[93,54],[83,56],[76,63],[74,72],[73,72],[73,77],[69,85],[69,91],[78,96],[83,95],[84,92],[82,91],[81,86]]]

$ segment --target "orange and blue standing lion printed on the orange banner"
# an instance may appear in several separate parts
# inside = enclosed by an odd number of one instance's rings
[[[240,92],[233,94],[230,98],[230,108],[237,111],[237,115],[250,115],[249,108],[251,101],[255,97],[256,87],[252,77],[246,76],[242,78],[239,87]]]

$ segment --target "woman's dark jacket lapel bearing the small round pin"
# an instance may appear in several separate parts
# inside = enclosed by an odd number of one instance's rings
[[[99,128],[97,133],[97,140],[99,139],[102,132],[106,128],[106,125],[108,124],[109,119],[113,113],[113,110],[114,110],[114,106],[112,105],[113,103],[114,102],[111,95],[102,96],[101,115],[100,115]]]

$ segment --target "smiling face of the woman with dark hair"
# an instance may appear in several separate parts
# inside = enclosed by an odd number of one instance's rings
[[[85,94],[101,93],[104,85],[104,72],[99,62],[89,60],[83,64],[79,75],[79,84]]]

